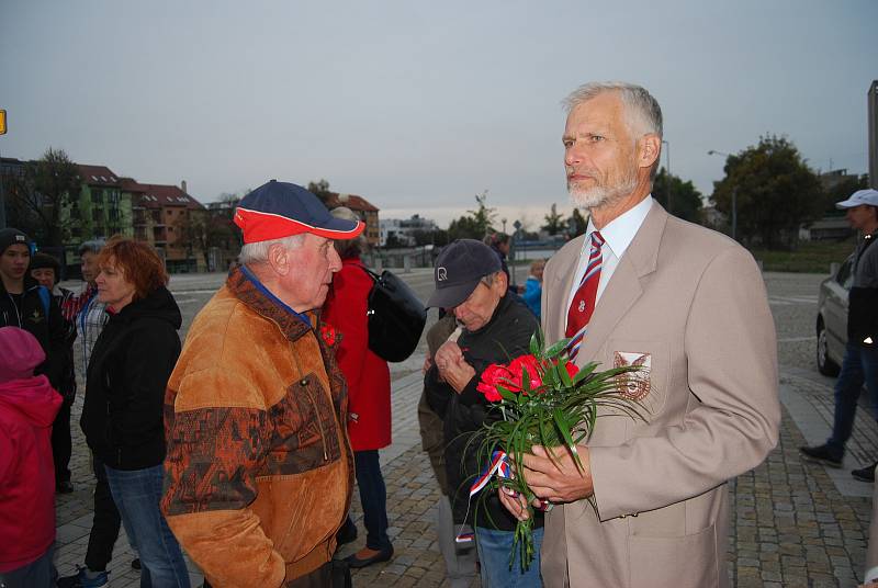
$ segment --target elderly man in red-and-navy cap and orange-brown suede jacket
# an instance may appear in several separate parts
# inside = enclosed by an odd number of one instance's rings
[[[347,389],[316,309],[362,233],[295,184],[241,200],[239,265],[199,313],[168,382],[161,501],[215,586],[335,586],[351,499]],[[349,581],[349,578],[348,580]]]

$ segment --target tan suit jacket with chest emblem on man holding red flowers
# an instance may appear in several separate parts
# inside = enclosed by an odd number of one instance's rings
[[[584,237],[545,267],[543,330],[564,336]],[[605,414],[586,500],[545,519],[547,587],[727,586],[727,480],[777,444],[777,343],[759,270],[735,241],[653,203],[601,294],[576,363],[640,363],[644,421]]]

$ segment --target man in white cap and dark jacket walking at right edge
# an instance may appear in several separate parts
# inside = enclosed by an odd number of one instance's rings
[[[854,251],[854,284],[847,306],[847,347],[835,383],[832,436],[822,445],[803,446],[799,451],[811,461],[841,467],[864,383],[878,418],[878,247],[873,247],[878,236],[878,191],[858,190],[835,206],[847,211],[847,222],[863,234]],[[876,465],[878,462],[851,474],[863,482],[875,482]]]

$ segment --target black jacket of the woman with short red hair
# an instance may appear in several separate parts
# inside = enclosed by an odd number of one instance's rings
[[[112,315],[91,352],[80,425],[97,456],[116,470],[165,460],[165,387],[180,355],[180,308],[160,287]]]

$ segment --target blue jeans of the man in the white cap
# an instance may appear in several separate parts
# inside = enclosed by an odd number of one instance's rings
[[[873,415],[878,418],[878,348],[847,343],[842,360],[842,371],[835,383],[835,418],[832,437],[826,441],[830,451],[838,459],[844,456],[844,445],[851,439],[857,399],[864,383],[869,393]]]

